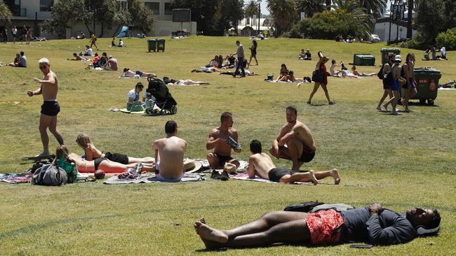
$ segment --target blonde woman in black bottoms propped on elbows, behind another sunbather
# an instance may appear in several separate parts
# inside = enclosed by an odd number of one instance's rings
[[[155,162],[154,157],[128,157],[127,155],[106,152],[103,153],[98,148],[95,148],[92,141],[86,134],[79,134],[76,138],[76,143],[84,150],[84,154],[86,155],[86,160],[91,161],[97,158],[105,158],[112,162],[118,162],[121,164],[135,164],[135,163],[143,163],[143,164],[152,164]]]

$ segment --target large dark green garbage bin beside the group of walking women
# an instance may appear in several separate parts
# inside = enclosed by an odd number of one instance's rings
[[[417,83],[417,95],[412,99],[419,99],[421,104],[427,101],[427,104],[434,105],[434,100],[437,98],[438,80],[442,74],[438,69],[416,68],[415,79]]]

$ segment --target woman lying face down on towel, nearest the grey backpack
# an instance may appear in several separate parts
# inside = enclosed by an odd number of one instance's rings
[[[120,164],[109,161],[106,158],[97,158],[93,161],[83,159],[79,155],[69,153],[65,145],[59,145],[55,150],[55,159],[59,159],[67,153],[67,162],[74,162],[80,173],[94,173],[97,170],[103,170],[106,173],[121,173],[128,168],[135,168],[135,164]],[[141,171],[155,171],[154,164],[142,164]]]

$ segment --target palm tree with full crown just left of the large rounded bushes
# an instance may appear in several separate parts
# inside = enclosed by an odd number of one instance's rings
[[[267,0],[267,10],[276,24],[276,36],[288,31],[297,17],[295,0]]]

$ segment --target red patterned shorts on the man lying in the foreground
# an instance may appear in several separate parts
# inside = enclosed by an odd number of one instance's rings
[[[344,224],[344,218],[334,210],[318,211],[309,213],[306,223],[310,230],[311,243],[337,243],[340,239],[340,227]]]

